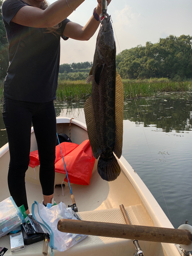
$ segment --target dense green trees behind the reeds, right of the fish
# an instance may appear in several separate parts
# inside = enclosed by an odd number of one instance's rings
[[[169,35],[152,44],[124,50],[117,55],[117,70],[122,78],[192,78],[192,37]]]

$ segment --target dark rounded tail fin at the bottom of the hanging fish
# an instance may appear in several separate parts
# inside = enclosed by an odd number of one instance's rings
[[[116,180],[121,173],[120,166],[114,155],[109,159],[101,154],[97,164],[97,170],[101,178],[106,181]]]

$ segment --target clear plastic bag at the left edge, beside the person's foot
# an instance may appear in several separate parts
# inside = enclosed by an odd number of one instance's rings
[[[12,197],[0,203],[0,238],[24,222],[24,217]]]

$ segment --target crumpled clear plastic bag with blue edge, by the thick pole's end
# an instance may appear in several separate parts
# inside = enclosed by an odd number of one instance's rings
[[[53,249],[65,251],[88,237],[83,234],[60,232],[57,229],[57,223],[60,219],[77,220],[73,214],[73,210],[70,207],[66,208],[66,205],[62,202],[48,208],[35,201],[32,204],[32,215],[36,221],[47,229],[50,235],[49,246],[52,249],[52,255]]]

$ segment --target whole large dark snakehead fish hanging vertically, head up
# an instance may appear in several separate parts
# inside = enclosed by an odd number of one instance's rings
[[[91,97],[84,104],[88,136],[93,155],[98,160],[102,179],[115,180],[120,166],[115,155],[122,154],[123,84],[116,72],[116,45],[110,17],[102,20],[97,36],[93,67],[87,82],[92,81]]]

